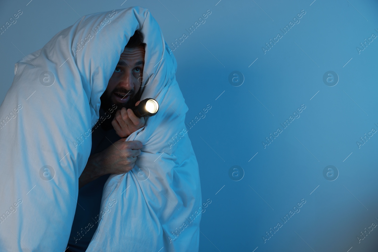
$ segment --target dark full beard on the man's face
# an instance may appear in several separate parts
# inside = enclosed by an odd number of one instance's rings
[[[133,108],[135,107],[135,103],[140,99],[141,97],[141,94],[140,94],[140,90],[138,90],[138,92],[134,93],[134,90],[126,90],[124,88],[117,88],[116,90],[113,90],[113,92],[110,94],[110,96],[112,96],[112,94],[114,92],[119,92],[119,93],[128,93],[130,94],[130,99],[127,101],[127,102],[124,102],[124,103],[120,103],[120,102],[113,102],[112,99],[107,96],[105,96],[105,93],[103,93],[100,97],[100,100],[101,100],[101,105],[100,105],[100,108],[102,108],[102,110],[104,110],[105,112],[109,113],[110,114],[110,118],[107,118],[105,119],[104,122],[102,122],[101,124],[101,128],[103,130],[111,130],[113,128],[113,125],[112,125],[112,121],[114,119],[114,116],[116,114],[116,112],[118,110],[121,110],[121,108]],[[112,110],[112,107],[113,105],[116,105],[117,108],[115,110],[113,110],[113,113],[110,113],[109,111]]]

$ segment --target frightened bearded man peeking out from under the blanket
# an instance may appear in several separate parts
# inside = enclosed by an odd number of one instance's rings
[[[144,46],[141,32],[135,31],[101,96],[100,117],[105,111],[113,113],[101,122],[101,127],[92,129],[91,153],[79,177],[79,195],[67,251],[84,252],[87,249],[99,221],[105,182],[110,174],[133,169],[141,153],[141,142],[126,142],[125,138],[145,124],[144,117],[136,117],[130,109],[139,104],[141,97]]]

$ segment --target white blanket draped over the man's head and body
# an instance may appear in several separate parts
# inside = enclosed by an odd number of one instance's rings
[[[187,134],[176,135],[188,110],[177,63],[150,11],[135,6],[86,15],[15,64],[0,107],[0,251],[66,249],[100,96],[138,29],[146,43],[141,100],[160,108],[127,138],[142,152],[130,172],[105,183],[87,251],[198,250],[200,178]]]

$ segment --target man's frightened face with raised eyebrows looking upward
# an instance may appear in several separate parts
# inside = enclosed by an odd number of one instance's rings
[[[144,46],[125,48],[102,94],[105,107],[111,104],[118,108],[135,106],[134,96],[142,85],[144,67]]]

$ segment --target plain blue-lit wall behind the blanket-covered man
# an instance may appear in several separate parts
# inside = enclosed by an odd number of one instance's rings
[[[0,101],[14,63],[85,14],[146,7],[171,45],[210,9],[174,51],[186,122],[211,105],[188,133],[203,201],[212,201],[202,213],[200,251],[376,251],[378,230],[360,243],[357,236],[378,224],[378,136],[356,144],[378,130],[378,41],[360,54],[356,49],[372,33],[378,36],[375,1],[122,2],[1,2],[1,26],[17,10],[23,14],[0,35]],[[280,29],[303,9],[300,23],[283,35]],[[283,37],[264,54],[277,33]],[[232,71],[243,74],[239,87],[228,81]],[[325,85],[327,71],[338,74],[337,85]],[[283,129],[280,123],[302,104],[300,117]],[[279,127],[283,132],[264,148]],[[239,181],[229,176],[233,165],[242,167]],[[323,176],[327,165],[338,169],[336,180]],[[301,199],[300,212],[283,223]],[[283,226],[264,243],[278,222]]]

